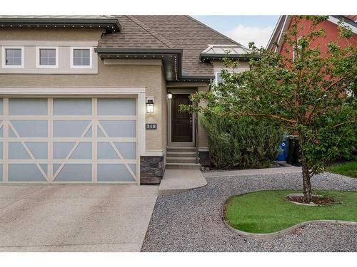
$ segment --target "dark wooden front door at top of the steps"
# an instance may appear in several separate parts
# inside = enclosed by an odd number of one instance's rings
[[[180,104],[191,105],[189,95],[172,95],[171,100],[171,142],[192,142],[192,115],[179,112]]]

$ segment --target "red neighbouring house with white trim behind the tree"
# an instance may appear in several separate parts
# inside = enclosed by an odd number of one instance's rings
[[[292,26],[293,16],[280,16],[278,22],[276,23],[276,27],[271,35],[271,38],[268,41],[268,45],[266,49],[269,51],[274,51],[277,53],[281,53],[283,55],[289,56],[293,58],[293,48],[289,47],[288,43],[283,43],[283,33],[288,31]],[[343,23],[350,27],[353,31],[353,36],[346,41],[346,39],[340,39],[338,32],[338,22],[343,21]],[[303,29],[301,29],[303,26]],[[308,30],[311,26],[311,21],[306,19],[301,19],[298,21],[297,29],[299,34],[303,35],[308,33]],[[316,41],[311,43],[311,47],[320,46],[321,55],[326,55],[327,52],[327,44],[331,41],[337,41],[339,46],[347,46],[348,44],[352,44],[353,46],[357,46],[357,16],[328,16],[328,20],[323,21],[318,24],[318,28],[323,28],[325,30],[326,36],[318,38]],[[277,44],[277,46],[276,46]],[[286,51],[290,51],[287,54]]]

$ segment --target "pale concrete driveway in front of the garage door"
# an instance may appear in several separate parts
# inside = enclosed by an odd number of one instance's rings
[[[140,251],[157,194],[135,184],[1,184],[0,251]]]

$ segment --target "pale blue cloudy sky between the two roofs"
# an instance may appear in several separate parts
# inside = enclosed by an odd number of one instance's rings
[[[193,16],[211,28],[248,47],[250,41],[266,47],[279,16]]]

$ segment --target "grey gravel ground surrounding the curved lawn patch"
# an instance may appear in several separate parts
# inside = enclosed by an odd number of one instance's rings
[[[312,223],[280,239],[244,239],[222,221],[233,194],[263,189],[301,189],[301,174],[213,177],[206,187],[159,197],[141,251],[357,251],[357,226]],[[324,173],[314,189],[357,191],[357,179]]]

